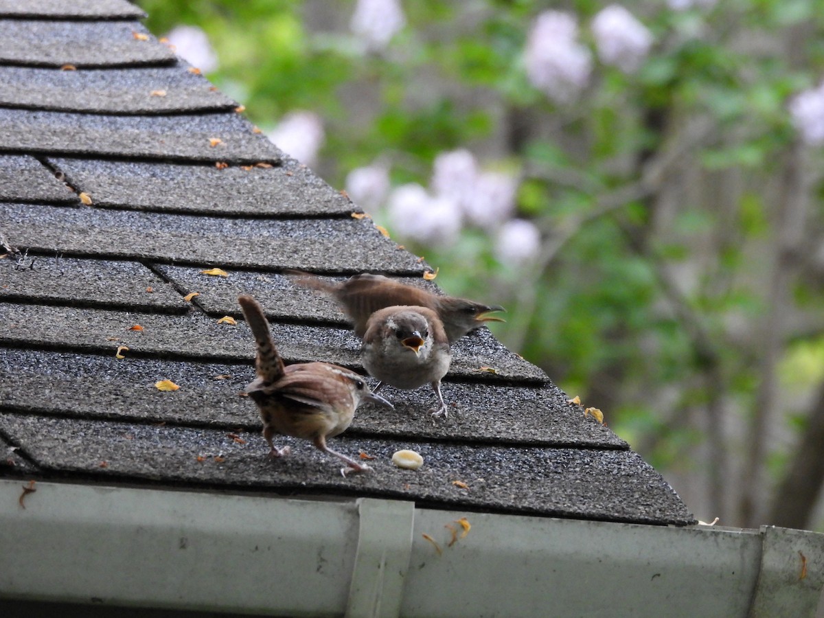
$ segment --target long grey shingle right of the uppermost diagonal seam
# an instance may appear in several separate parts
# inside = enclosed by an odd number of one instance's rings
[[[53,159],[98,206],[180,213],[348,216],[357,208],[304,166],[215,166]]]

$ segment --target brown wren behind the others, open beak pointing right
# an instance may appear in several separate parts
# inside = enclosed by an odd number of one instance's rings
[[[329,293],[343,307],[355,326],[355,335],[363,338],[372,313],[384,307],[409,305],[435,311],[450,344],[479,328],[484,322],[503,322],[487,314],[504,311],[497,305],[484,305],[464,298],[437,296],[414,285],[400,283],[381,274],[356,274],[341,283],[327,283],[313,274],[290,271],[294,279],[307,288]]]

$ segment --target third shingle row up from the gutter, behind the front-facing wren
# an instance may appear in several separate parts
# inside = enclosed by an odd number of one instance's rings
[[[240,312],[236,311],[239,316]],[[221,316],[222,317],[222,316]],[[130,331],[135,324],[143,330]],[[272,325],[280,353],[288,362],[325,361],[360,368],[360,339],[352,331],[307,325]],[[252,337],[242,322],[219,324],[217,317],[191,312],[187,316],[102,311],[85,307],[47,307],[0,303],[0,342],[24,346],[77,349],[114,355],[127,345],[131,356],[176,356],[205,361],[250,361]],[[453,349],[447,378],[489,382],[545,382],[544,372],[509,352],[493,337],[467,337]],[[490,375],[480,368],[494,366]]]

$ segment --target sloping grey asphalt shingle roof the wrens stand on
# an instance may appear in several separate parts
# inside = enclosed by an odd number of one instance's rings
[[[141,15],[120,0],[0,0],[0,241],[20,250],[0,260],[0,475],[693,522],[661,475],[488,330],[454,346],[448,419],[427,414],[430,389],[386,387],[396,410],[364,406],[332,441],[375,457],[371,474],[343,478],[293,438],[277,441],[292,456],[269,460],[239,395],[254,350],[237,295],[263,304],[287,362],[362,371],[338,307],[283,270],[437,288]],[[166,378],[180,390],[158,391]],[[419,471],[391,464],[408,447]]]

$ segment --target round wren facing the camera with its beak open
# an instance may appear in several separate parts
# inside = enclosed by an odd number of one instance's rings
[[[452,353],[443,325],[432,309],[385,307],[375,311],[367,321],[361,360],[369,375],[381,384],[402,389],[431,384],[439,407],[430,411],[434,417],[447,416],[441,378],[449,371]]]

